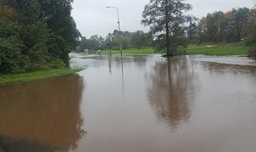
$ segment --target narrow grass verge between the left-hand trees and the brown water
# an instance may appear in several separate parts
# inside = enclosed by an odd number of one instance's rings
[[[56,76],[66,76],[79,72],[83,69],[56,69],[56,70],[39,70],[29,73],[0,75],[0,85],[15,82],[31,82],[36,80],[47,79]]]

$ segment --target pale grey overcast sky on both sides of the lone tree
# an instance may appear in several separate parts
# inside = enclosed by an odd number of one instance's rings
[[[113,8],[117,6],[120,11],[120,24],[122,31],[148,31],[141,25],[144,6],[149,0],[74,0],[73,18],[78,29],[85,37],[92,35],[107,36],[118,28],[117,13]],[[193,10],[189,14],[196,17],[206,16],[215,10],[228,11],[231,8],[253,8],[253,0],[188,0]]]

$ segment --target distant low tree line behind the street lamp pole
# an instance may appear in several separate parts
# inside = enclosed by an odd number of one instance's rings
[[[150,33],[144,31],[118,31],[108,33],[107,37],[92,36],[90,38],[82,37],[79,41],[78,51],[83,52],[84,49],[119,49],[120,42],[122,48],[150,48],[152,47],[153,37]]]

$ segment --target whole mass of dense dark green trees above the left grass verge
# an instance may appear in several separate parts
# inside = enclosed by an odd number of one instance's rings
[[[73,0],[0,1],[0,73],[49,70],[68,64],[80,33]]]

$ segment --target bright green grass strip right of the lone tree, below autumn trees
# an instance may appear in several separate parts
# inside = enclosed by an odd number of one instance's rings
[[[190,45],[187,54],[205,54],[205,55],[242,55],[247,54],[249,47],[236,45]]]

